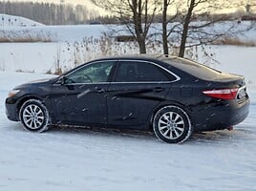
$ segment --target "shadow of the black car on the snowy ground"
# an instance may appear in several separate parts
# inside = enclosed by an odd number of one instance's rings
[[[22,128],[19,123],[12,124],[9,127],[2,129],[2,131],[16,132],[16,133],[30,133]],[[155,137],[153,132],[150,131],[138,131],[127,129],[114,129],[114,128],[99,128],[99,127],[74,127],[74,126],[52,126],[46,133],[47,135],[57,136],[95,136],[108,137],[108,138],[136,138],[149,141],[159,141]],[[195,144],[195,143],[216,143],[216,142],[234,142],[234,141],[246,141],[251,138],[256,138],[256,131],[249,129],[238,128],[232,131],[219,130],[212,132],[201,132],[192,134],[191,138],[183,142],[182,144]]]

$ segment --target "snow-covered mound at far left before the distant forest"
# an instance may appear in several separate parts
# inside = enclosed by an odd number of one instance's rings
[[[31,19],[10,14],[0,14],[0,27],[38,27],[44,26]]]

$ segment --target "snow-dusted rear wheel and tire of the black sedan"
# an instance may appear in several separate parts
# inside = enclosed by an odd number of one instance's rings
[[[153,130],[160,140],[167,143],[181,143],[193,132],[190,118],[178,106],[165,106],[153,118]]]

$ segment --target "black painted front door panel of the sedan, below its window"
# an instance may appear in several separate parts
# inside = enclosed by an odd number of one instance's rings
[[[57,123],[107,123],[106,95],[110,83],[52,87],[53,115]],[[88,101],[89,100],[89,101]]]

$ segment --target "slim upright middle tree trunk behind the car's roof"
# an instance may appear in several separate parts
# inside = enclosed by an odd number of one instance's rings
[[[167,7],[168,0],[163,0],[162,8],[162,49],[164,54],[169,54],[168,50],[168,36],[167,36]]]

